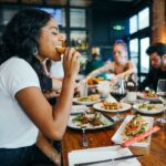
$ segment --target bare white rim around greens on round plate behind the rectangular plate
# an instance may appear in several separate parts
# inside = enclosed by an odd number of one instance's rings
[[[139,105],[143,105],[143,104],[135,104],[135,105],[133,105],[133,108],[135,108],[137,112],[143,113],[143,114],[158,114],[158,113],[164,112],[164,110],[166,108],[166,107],[164,107],[163,104],[147,104],[147,105],[154,105],[155,108],[153,108],[153,110],[138,108]]]

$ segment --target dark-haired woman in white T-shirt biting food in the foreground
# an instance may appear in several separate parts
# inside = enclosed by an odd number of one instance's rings
[[[46,58],[60,61],[59,29],[46,12],[25,9],[9,22],[0,45],[0,163],[24,166],[33,157],[39,129],[60,141],[65,132],[80,53],[65,49],[64,79],[59,102],[52,107],[41,92],[38,75]],[[38,73],[38,74],[37,74]]]

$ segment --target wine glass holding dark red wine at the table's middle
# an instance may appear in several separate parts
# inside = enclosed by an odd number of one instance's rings
[[[117,83],[112,86],[111,95],[120,103],[120,101],[126,95],[126,85],[124,80],[118,80]],[[118,107],[114,120],[116,122],[124,120],[124,117],[120,115]]]

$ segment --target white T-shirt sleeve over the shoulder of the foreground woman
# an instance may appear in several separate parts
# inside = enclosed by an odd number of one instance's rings
[[[28,86],[40,87],[39,79],[32,66],[23,59],[11,58],[0,66],[2,85],[12,95]]]

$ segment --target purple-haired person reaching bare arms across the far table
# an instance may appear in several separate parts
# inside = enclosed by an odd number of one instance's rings
[[[115,76],[111,79],[114,83],[120,79],[124,79],[126,75],[132,73],[136,73],[135,65],[128,61],[128,51],[126,43],[123,40],[116,40],[113,45],[113,56],[114,61],[105,64],[104,66],[92,71],[87,77],[97,76],[101,73],[111,72],[114,73]]]

